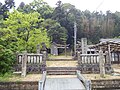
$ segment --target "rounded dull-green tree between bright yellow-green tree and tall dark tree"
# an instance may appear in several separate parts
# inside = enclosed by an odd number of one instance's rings
[[[52,19],[46,19],[42,22],[42,26],[47,29],[48,36],[51,37],[51,42],[65,44],[67,41],[67,30],[58,22]]]

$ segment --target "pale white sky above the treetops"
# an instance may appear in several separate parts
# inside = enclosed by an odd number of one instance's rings
[[[25,2],[26,4],[32,2],[33,0],[14,0],[16,6],[20,4],[20,2]],[[44,0],[50,6],[55,7],[55,4],[58,0]],[[119,11],[120,12],[120,0],[61,0],[63,3],[70,3],[74,5],[77,9],[81,11],[89,10],[93,11],[103,11],[106,12],[110,10],[111,12]],[[0,2],[4,2],[4,0],[0,0]]]

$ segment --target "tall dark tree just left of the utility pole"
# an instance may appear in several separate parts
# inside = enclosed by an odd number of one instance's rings
[[[53,11],[52,19],[60,23],[67,30],[67,44],[73,44],[73,30],[75,21],[75,7],[69,3],[63,4],[61,1],[56,3],[57,7]]]

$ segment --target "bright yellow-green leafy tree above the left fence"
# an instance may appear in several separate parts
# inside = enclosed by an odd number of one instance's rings
[[[36,28],[37,22],[41,21],[43,19],[37,12],[25,14],[14,10],[14,12],[9,13],[9,18],[4,21],[6,34],[3,38],[8,41],[6,44],[9,43],[13,47],[17,46],[17,50],[27,50],[28,52],[35,52],[36,45],[42,42],[49,46],[46,30]]]

